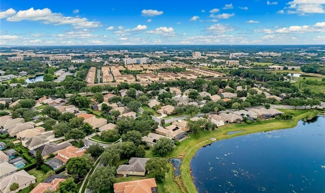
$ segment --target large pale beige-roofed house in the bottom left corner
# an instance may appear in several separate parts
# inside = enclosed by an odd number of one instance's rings
[[[35,182],[36,182],[36,177],[29,175],[25,170],[20,170],[14,174],[11,174],[1,179],[0,192],[14,193],[14,191],[10,191],[10,185],[12,183],[18,183],[19,188],[16,190],[18,192],[19,190],[28,187],[29,184]]]

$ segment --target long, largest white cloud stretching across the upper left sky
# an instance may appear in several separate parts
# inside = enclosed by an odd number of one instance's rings
[[[98,21],[88,21],[87,18],[64,17],[61,13],[52,13],[49,8],[20,10],[16,15],[7,18],[7,21],[43,21],[45,24],[72,25],[74,28],[97,28],[101,24]]]

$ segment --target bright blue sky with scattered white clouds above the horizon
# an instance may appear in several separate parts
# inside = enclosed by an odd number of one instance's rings
[[[17,1],[0,45],[325,44],[324,0]]]

